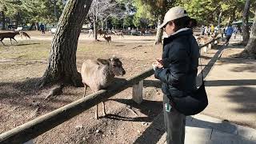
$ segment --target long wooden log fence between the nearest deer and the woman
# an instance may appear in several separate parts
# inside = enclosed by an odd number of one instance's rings
[[[200,48],[204,46],[211,47],[211,45],[213,45],[218,39],[219,38],[214,38],[210,42],[200,46]],[[132,78],[126,79],[123,82],[119,82],[118,85],[110,86],[110,90],[99,90],[98,92],[90,94],[85,98],[78,99],[77,101],[66,106],[62,106],[61,108],[58,108],[57,110],[54,110],[48,114],[35,118],[30,122],[26,122],[21,126],[17,126],[12,130],[0,134],[0,143],[10,144],[28,142],[31,139],[38,137],[38,135],[51,130],[55,126],[66,122],[70,118],[74,118],[74,116],[81,114],[83,111],[90,109],[98,103],[107,100],[108,98],[114,96],[114,94],[118,94],[122,90],[126,90],[130,86],[133,86],[133,100],[140,103],[142,102],[143,80],[150,77],[152,74],[154,74],[154,70],[150,68],[144,71],[142,74],[138,74]]]

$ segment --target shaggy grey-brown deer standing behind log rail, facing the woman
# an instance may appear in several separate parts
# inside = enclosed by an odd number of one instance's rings
[[[95,93],[109,86],[114,81],[114,76],[124,74],[126,74],[126,70],[122,68],[122,62],[119,58],[86,60],[86,62],[82,63],[81,69],[82,83],[85,86],[83,97],[86,96],[88,86]],[[104,102],[102,102],[102,111],[103,116],[105,116]],[[95,118],[98,119],[98,105],[96,105]]]

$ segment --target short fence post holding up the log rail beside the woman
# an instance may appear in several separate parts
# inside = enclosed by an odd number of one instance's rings
[[[142,102],[143,80],[133,86],[133,100],[140,104]]]

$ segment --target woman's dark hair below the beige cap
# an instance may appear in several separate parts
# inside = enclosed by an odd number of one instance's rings
[[[194,18],[190,18],[190,17],[182,17],[182,18],[178,18],[178,19],[174,19],[174,22],[175,24],[175,30],[174,31],[177,31],[177,30],[180,30],[182,28],[194,28],[195,26],[197,26],[197,21],[194,19]]]

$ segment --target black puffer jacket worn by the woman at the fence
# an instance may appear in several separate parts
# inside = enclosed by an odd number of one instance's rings
[[[199,46],[191,29],[182,29],[163,42],[163,69],[154,77],[162,82],[162,92],[168,97],[185,97],[196,90]]]

